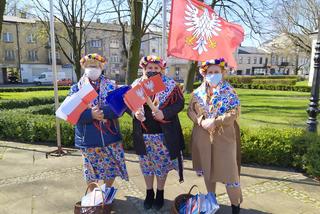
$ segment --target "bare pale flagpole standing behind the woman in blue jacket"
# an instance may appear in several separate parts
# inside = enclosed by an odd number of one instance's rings
[[[54,88],[54,104],[55,110],[59,108],[59,99],[58,99],[58,84],[57,84],[57,60],[56,60],[56,43],[55,43],[55,34],[54,34],[54,16],[53,16],[53,0],[50,0],[50,41],[51,41],[51,63],[52,63],[52,73],[53,73],[53,88]],[[56,132],[57,132],[57,146],[58,149],[52,152],[48,152],[46,157],[49,154],[54,154],[61,156],[64,152],[61,148],[61,133],[60,133],[60,122],[56,117]]]

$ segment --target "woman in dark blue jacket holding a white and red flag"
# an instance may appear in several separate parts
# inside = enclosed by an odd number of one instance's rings
[[[71,87],[70,95],[84,84],[91,84],[98,93],[81,114],[75,127],[75,145],[83,157],[83,172],[87,182],[103,180],[112,186],[116,176],[128,180],[118,116],[106,103],[108,92],[117,85],[102,75],[105,59],[98,54],[84,56],[81,61],[84,75]]]

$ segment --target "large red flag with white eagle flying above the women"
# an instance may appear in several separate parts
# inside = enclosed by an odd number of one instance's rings
[[[196,0],[172,0],[168,56],[196,61],[225,58],[236,66],[233,53],[244,39],[243,28],[219,17]]]

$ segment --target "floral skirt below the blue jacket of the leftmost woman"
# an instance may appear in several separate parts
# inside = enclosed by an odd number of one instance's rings
[[[87,182],[111,180],[117,176],[129,180],[122,143],[81,149],[81,153],[83,175]]]

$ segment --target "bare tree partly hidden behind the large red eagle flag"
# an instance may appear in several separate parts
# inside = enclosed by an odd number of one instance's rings
[[[207,2],[207,1],[206,1]],[[269,2],[269,4],[268,4]],[[272,1],[266,0],[211,0],[210,6],[227,21],[236,21],[250,29],[247,36],[255,38],[255,35],[270,33],[270,26],[263,21],[267,12],[272,7]],[[193,82],[197,70],[197,62],[190,64],[187,78],[184,82],[184,91],[193,91]]]

